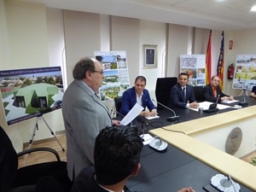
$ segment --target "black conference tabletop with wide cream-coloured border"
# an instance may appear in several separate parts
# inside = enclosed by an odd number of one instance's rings
[[[235,99],[243,101],[244,96],[237,96]],[[137,177],[131,177],[128,180],[127,187],[135,191],[172,192],[190,186],[197,192],[205,191],[203,186],[210,184],[211,178],[215,174],[221,173],[224,176],[230,174],[233,180],[240,184],[241,191],[255,191],[255,166],[190,137],[189,134],[195,131],[195,128],[188,128],[192,122],[216,118],[223,113],[224,115],[231,113],[230,116],[234,116],[233,113],[242,115],[245,113],[245,116],[251,116],[253,113],[255,119],[256,99],[246,96],[246,100],[248,107],[225,108],[215,113],[199,113],[187,108],[172,108],[179,115],[177,122],[166,120],[167,117],[173,116],[172,111],[159,108],[160,118],[145,119],[143,127],[148,130],[147,133],[150,135],[165,140],[168,143],[168,148],[166,152],[159,152],[145,145],[141,158],[141,170]],[[228,105],[236,104],[235,102]],[[244,112],[245,110],[248,112]],[[138,125],[141,133],[142,124],[137,120],[133,120],[133,124]],[[224,123],[220,121],[219,124]],[[212,188],[210,191],[216,190]]]

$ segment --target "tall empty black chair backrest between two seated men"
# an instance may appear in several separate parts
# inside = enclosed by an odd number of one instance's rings
[[[157,102],[160,102],[166,106],[168,105],[170,99],[170,91],[174,84],[177,84],[177,77],[156,79],[155,97]],[[157,107],[161,106],[157,104]]]

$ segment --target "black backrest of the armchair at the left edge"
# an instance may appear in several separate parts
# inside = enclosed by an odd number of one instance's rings
[[[0,192],[9,191],[17,169],[17,153],[3,127],[0,126]]]

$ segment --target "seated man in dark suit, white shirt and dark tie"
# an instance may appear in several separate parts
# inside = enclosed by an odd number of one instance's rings
[[[195,102],[194,90],[189,83],[189,74],[180,73],[178,83],[172,86],[170,92],[171,105],[178,108],[198,108],[199,104]]]

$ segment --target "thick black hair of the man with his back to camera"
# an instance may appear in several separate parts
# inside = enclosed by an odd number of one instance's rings
[[[131,175],[140,161],[142,148],[142,139],[134,128],[119,125],[100,131],[94,151],[96,181],[112,185]]]

